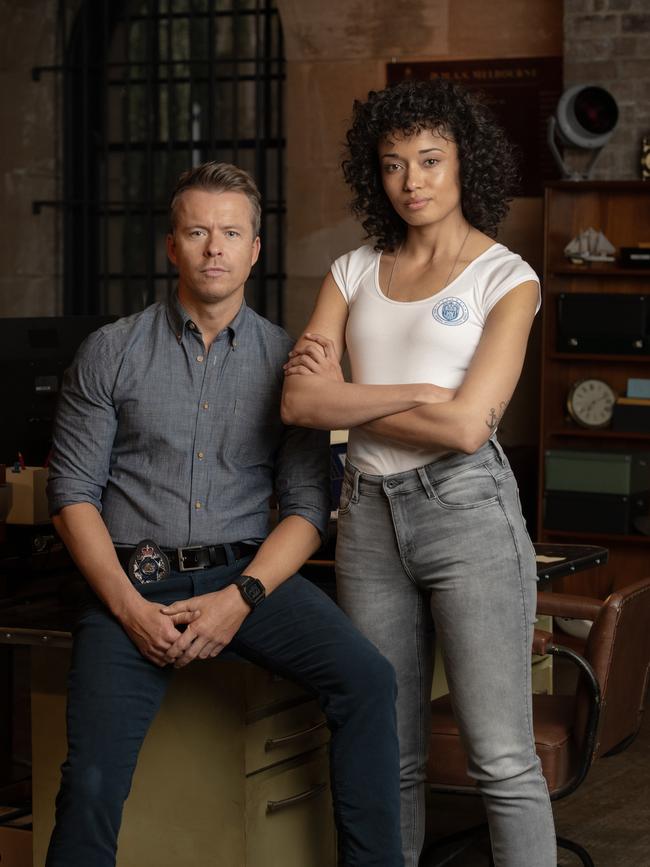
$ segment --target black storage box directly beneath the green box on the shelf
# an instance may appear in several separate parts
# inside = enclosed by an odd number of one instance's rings
[[[649,516],[650,491],[630,496],[574,491],[546,491],[544,494],[547,530],[647,534],[650,532]]]

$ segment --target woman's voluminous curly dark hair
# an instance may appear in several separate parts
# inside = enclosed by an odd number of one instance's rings
[[[417,135],[432,130],[449,136],[458,148],[461,206],[465,219],[494,237],[518,188],[516,152],[492,112],[466,88],[444,78],[402,81],[365,102],[356,100],[342,162],[354,197],[352,212],[361,219],[375,249],[393,250],[406,235],[381,182],[377,146],[391,132]]]

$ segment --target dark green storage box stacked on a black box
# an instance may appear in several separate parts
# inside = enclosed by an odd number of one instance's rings
[[[636,494],[650,490],[650,452],[589,452],[548,449],[547,491]]]

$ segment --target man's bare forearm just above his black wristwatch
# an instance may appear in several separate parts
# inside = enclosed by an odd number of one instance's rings
[[[289,515],[273,529],[245,573],[264,584],[267,594],[295,575],[321,540],[316,528],[299,515]]]

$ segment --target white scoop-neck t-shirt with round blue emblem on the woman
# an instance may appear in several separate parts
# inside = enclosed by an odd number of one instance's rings
[[[358,383],[431,382],[457,388],[497,301],[520,283],[539,283],[521,256],[493,244],[430,298],[393,301],[379,288],[380,258],[364,246],[332,265],[348,304],[346,344],[352,381]],[[357,428],[348,442],[350,462],[375,475],[421,467],[448,451],[388,443]]]

